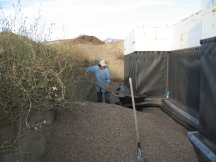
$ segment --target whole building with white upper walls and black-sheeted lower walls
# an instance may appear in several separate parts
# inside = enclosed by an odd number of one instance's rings
[[[125,39],[120,87],[130,97],[132,78],[136,104],[160,100],[194,131],[188,137],[202,160],[216,162],[216,1],[202,0],[201,8],[171,26],[138,25]]]

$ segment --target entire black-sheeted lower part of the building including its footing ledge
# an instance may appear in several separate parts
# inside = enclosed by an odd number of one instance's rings
[[[125,55],[124,67],[126,87],[132,78],[137,94],[152,100],[160,98],[164,111],[197,131],[189,133],[190,139],[204,141],[207,148],[215,151],[216,37],[201,40],[201,47],[196,48],[135,51]],[[193,140],[192,143],[200,146]]]

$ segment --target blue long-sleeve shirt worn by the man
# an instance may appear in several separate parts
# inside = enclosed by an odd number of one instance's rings
[[[95,73],[97,92],[105,92],[107,90],[107,86],[111,82],[109,68],[105,67],[103,70],[100,70],[99,66],[91,66],[86,69],[86,72]]]

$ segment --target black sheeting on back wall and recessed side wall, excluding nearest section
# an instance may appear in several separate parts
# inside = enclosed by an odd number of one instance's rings
[[[124,84],[133,80],[134,91],[150,98],[166,97],[198,117],[200,48],[182,51],[142,51],[125,55]]]

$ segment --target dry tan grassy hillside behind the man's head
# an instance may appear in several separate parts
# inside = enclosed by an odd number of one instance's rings
[[[59,51],[64,51],[76,58],[96,62],[105,59],[111,71],[113,80],[123,81],[124,77],[124,56],[123,56],[123,41],[105,43],[105,44],[80,44],[64,41],[57,41],[51,46]]]

